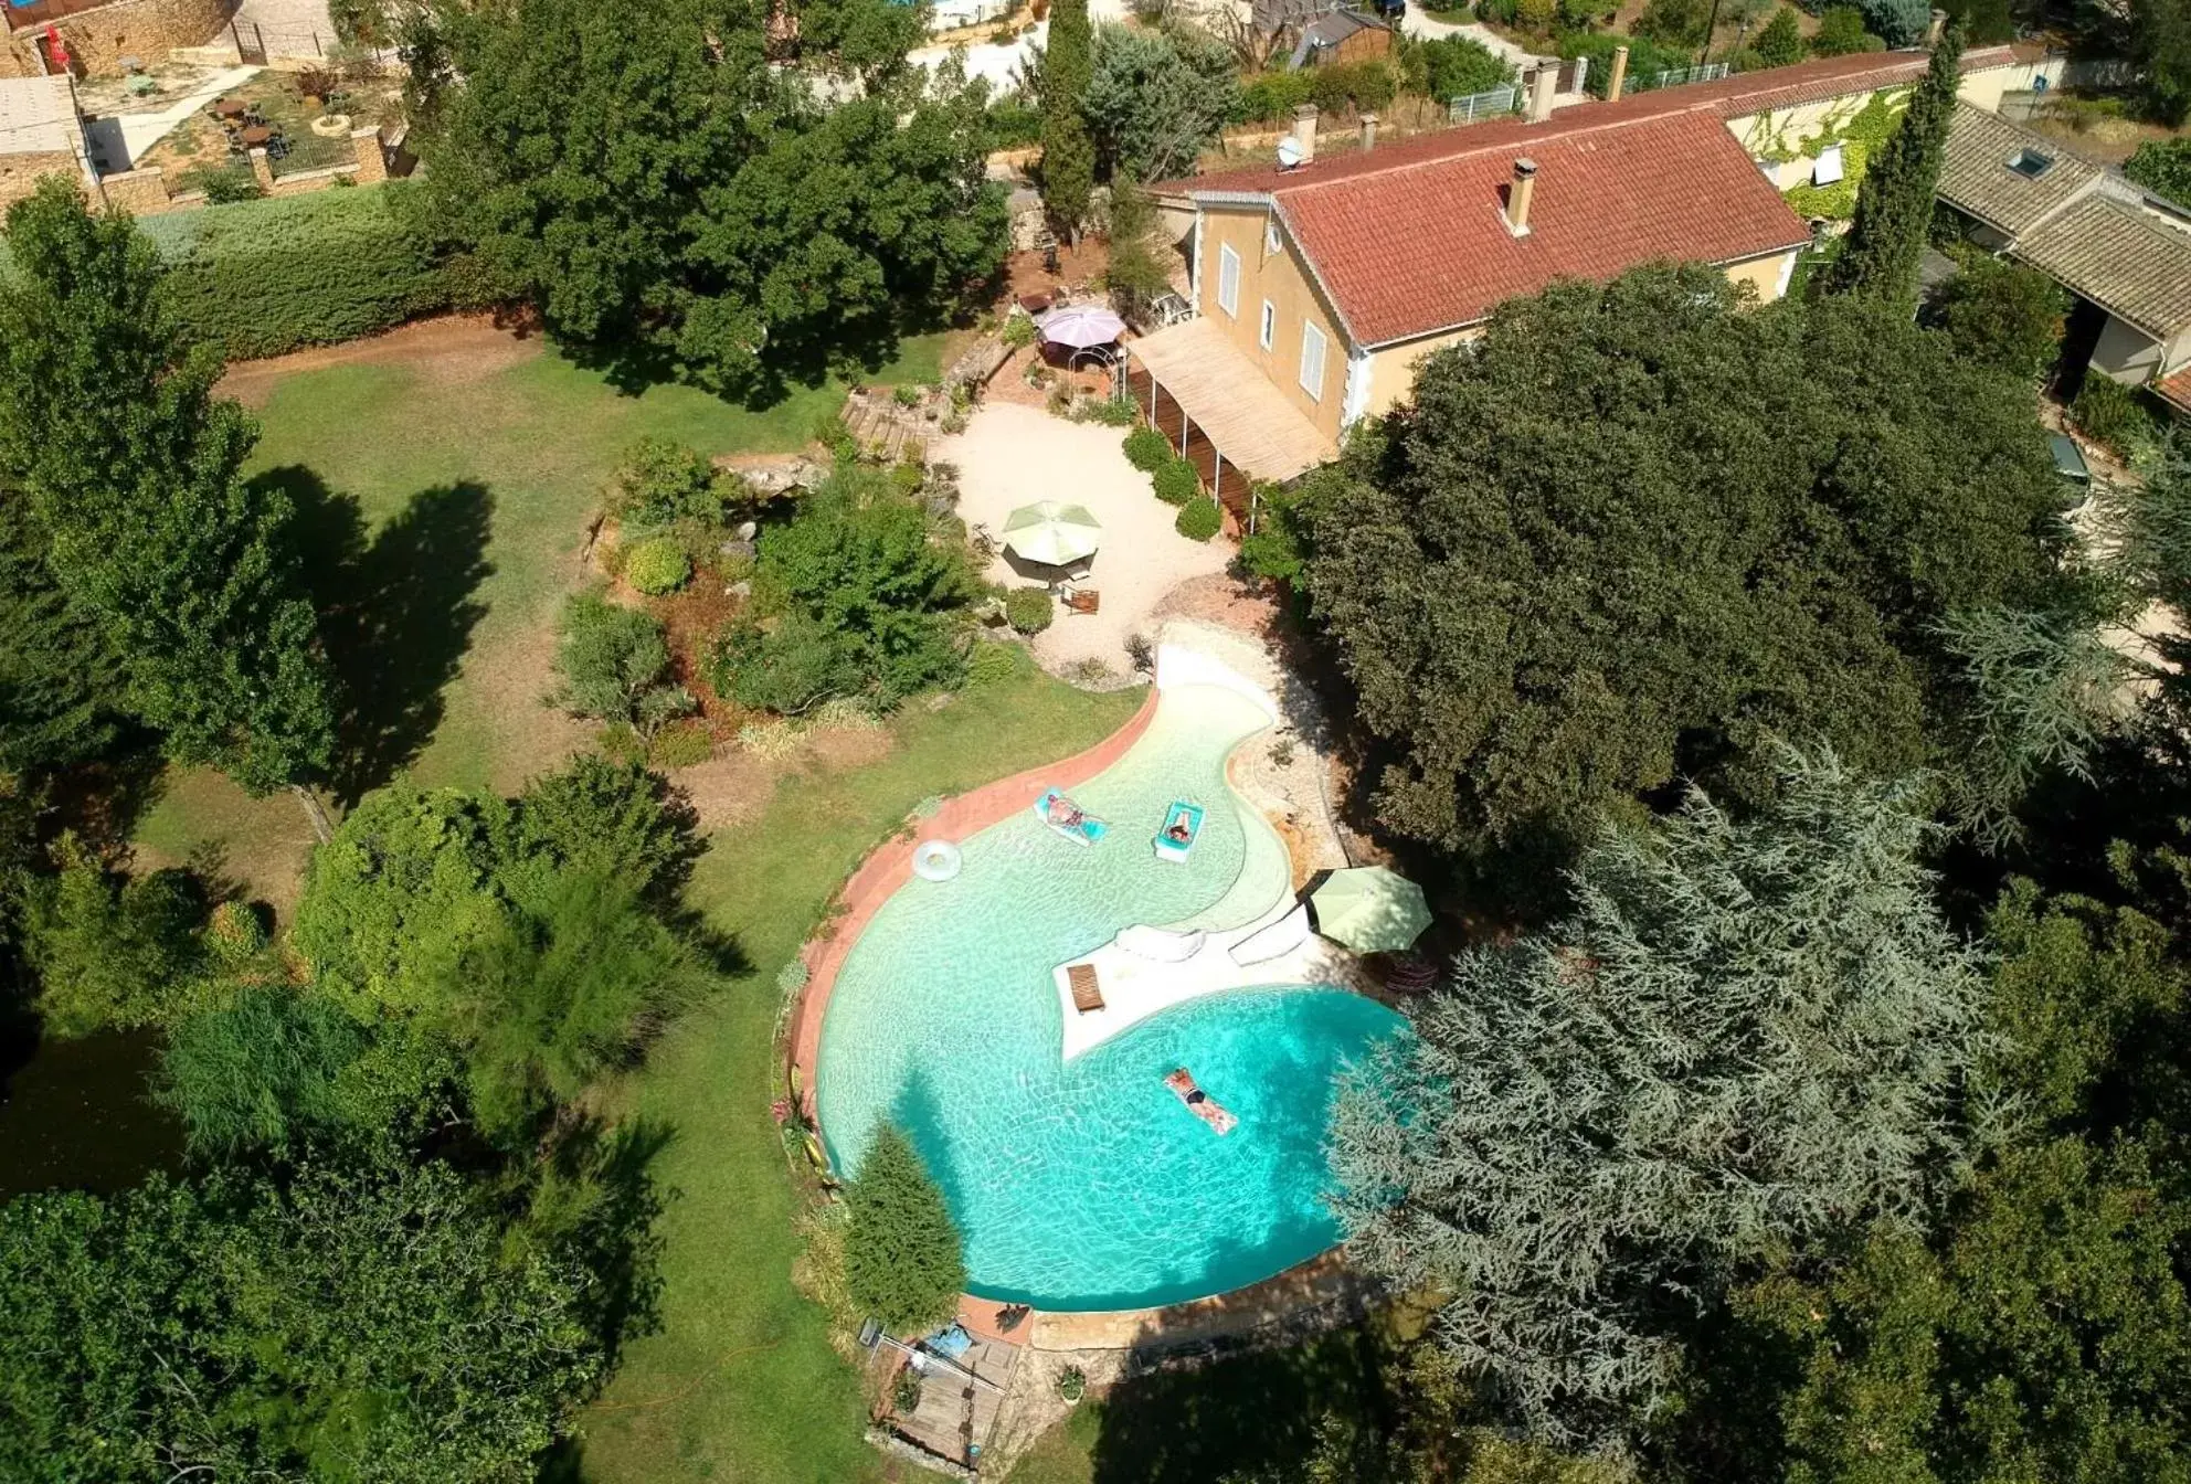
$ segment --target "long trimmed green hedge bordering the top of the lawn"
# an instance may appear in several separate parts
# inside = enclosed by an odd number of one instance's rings
[[[167,298],[230,359],[372,335],[495,302],[464,259],[436,263],[414,186],[353,186],[145,217]]]

